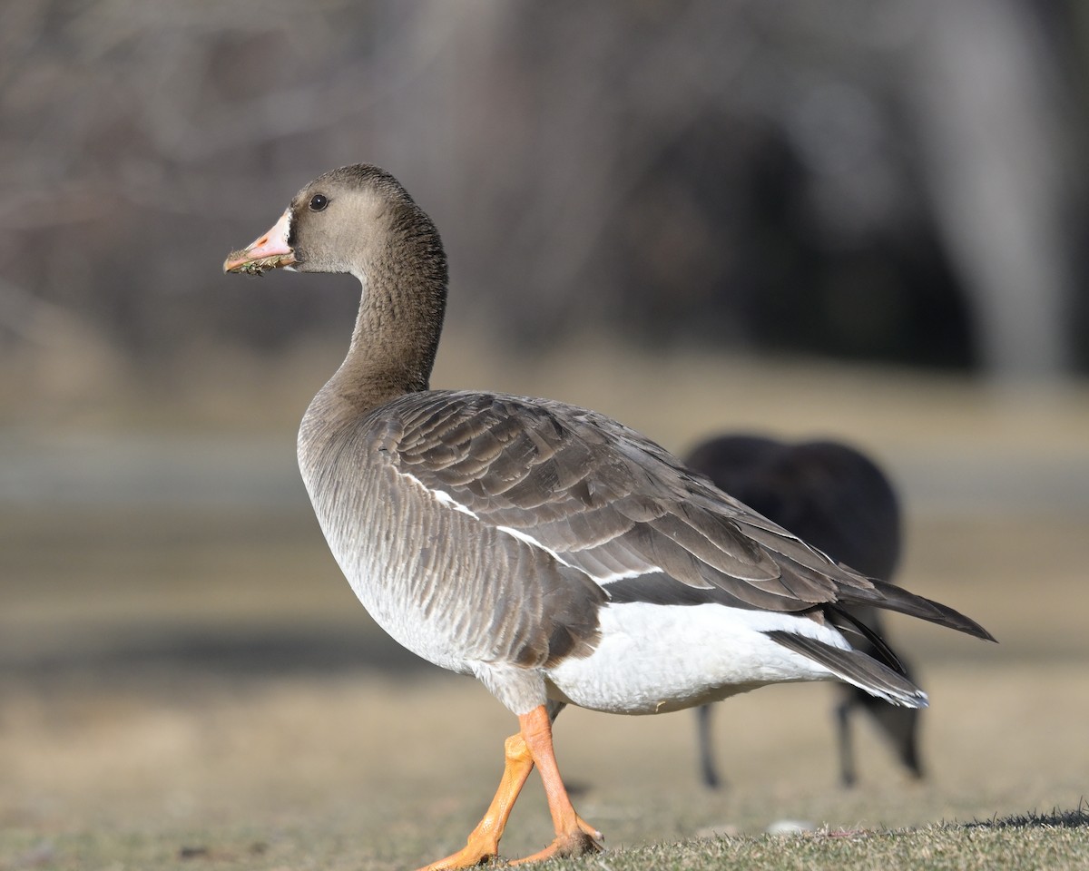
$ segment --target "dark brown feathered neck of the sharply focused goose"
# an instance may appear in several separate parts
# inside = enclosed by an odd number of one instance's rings
[[[446,308],[435,224],[412,200],[391,209],[387,244],[354,270],[364,289],[352,344],[326,388],[356,413],[428,389]]]

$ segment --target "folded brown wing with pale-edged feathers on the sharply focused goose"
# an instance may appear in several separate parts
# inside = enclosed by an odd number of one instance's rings
[[[396,466],[481,523],[516,530],[603,585],[668,576],[742,606],[806,611],[872,590],[616,421],[562,403],[433,391],[378,414]],[[878,598],[880,594],[877,593]]]

